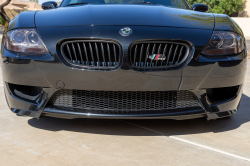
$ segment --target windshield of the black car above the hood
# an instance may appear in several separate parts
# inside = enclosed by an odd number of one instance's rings
[[[161,4],[163,6],[174,7],[174,8],[182,8],[188,9],[185,0],[64,0],[62,2],[63,6],[76,6],[76,5],[84,5],[88,3],[95,4],[112,4],[112,3],[138,3],[138,4]]]

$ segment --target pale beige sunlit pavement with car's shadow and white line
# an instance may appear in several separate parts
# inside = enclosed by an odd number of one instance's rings
[[[237,114],[213,121],[19,117],[1,74],[0,165],[250,165],[250,70]]]

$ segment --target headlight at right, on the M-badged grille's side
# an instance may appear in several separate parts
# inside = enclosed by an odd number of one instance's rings
[[[244,38],[233,32],[216,31],[207,44],[203,55],[237,55],[244,49]]]

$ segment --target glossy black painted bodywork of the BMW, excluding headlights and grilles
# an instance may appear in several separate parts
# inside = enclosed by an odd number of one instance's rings
[[[123,37],[119,34],[119,30],[125,26],[133,29],[132,35]],[[69,116],[60,113],[60,110],[48,112],[45,105],[59,87],[113,91],[190,90],[195,93],[204,107],[203,113],[197,112],[192,115],[184,113],[152,115],[152,117],[93,115],[91,118],[189,119],[208,117],[216,119],[230,116],[237,111],[246,72],[246,49],[240,55],[230,58],[211,59],[200,55],[214,30],[233,31],[244,36],[239,26],[228,16],[160,5],[83,5],[59,7],[37,13],[23,12],[11,21],[6,31],[16,28],[36,28],[50,52],[43,56],[19,56],[2,46],[1,66],[3,79],[6,82],[6,98],[12,111],[19,115],[36,118],[41,115],[67,118],[89,117]],[[60,54],[58,47],[61,42],[69,39],[109,39],[118,42],[123,49],[122,66],[116,71],[106,72],[79,70],[66,66],[58,56]],[[193,58],[187,66],[178,70],[135,71],[128,62],[128,48],[133,42],[141,40],[185,42],[194,49]],[[30,61],[18,63],[24,59]],[[21,100],[10,92],[7,83],[42,87],[42,99],[36,104]],[[229,101],[213,105],[207,99],[207,88],[237,85],[240,85],[240,89],[237,95]]]

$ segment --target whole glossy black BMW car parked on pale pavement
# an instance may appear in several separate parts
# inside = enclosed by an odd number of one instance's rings
[[[1,50],[11,111],[40,118],[190,119],[237,112],[245,38],[185,0],[64,0],[23,12]]]

